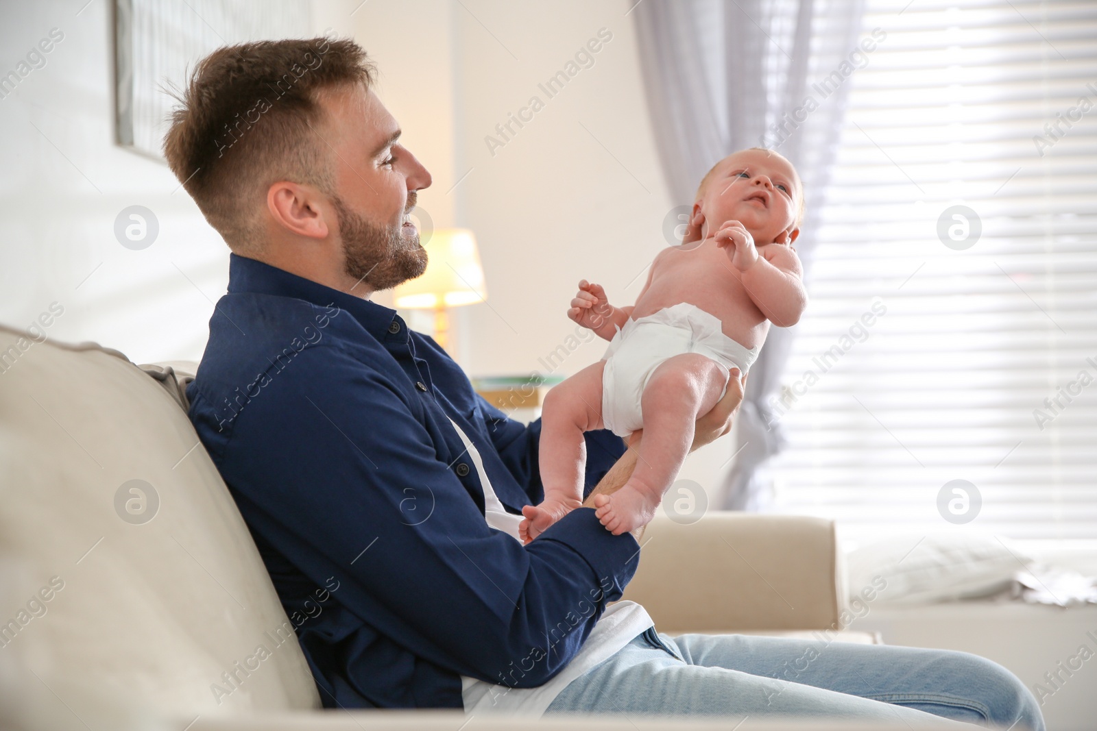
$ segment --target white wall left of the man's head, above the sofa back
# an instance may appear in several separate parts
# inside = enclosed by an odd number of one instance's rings
[[[0,99],[0,322],[25,328],[57,302],[52,338],[98,341],[137,363],[197,359],[228,249],[166,163],[114,145],[112,3],[86,3],[0,11],[0,73],[52,28],[64,34],[45,66]],[[349,8],[318,3],[315,30],[346,32]],[[159,221],[142,251],[114,237],[131,205]]]

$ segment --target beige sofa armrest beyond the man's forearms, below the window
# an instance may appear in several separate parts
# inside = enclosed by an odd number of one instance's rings
[[[668,633],[839,629],[845,564],[832,521],[720,511],[679,525],[660,515],[622,598]]]

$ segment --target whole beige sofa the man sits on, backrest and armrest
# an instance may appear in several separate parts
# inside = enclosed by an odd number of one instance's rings
[[[460,711],[320,708],[248,528],[186,419],[185,370],[0,327],[0,728],[473,722]],[[659,518],[625,598],[671,633],[835,632],[846,606],[840,556],[834,526],[816,518]],[[532,726],[716,728],[626,721]],[[477,718],[471,728],[512,726]]]

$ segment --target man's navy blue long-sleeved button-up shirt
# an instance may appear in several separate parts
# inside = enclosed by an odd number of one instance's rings
[[[188,387],[325,706],[460,708],[461,676],[542,685],[637,564],[578,509],[522,546],[488,527],[452,419],[509,512],[541,501],[540,421],[507,419],[395,310],[231,255]],[[587,489],[623,452],[587,435]]]

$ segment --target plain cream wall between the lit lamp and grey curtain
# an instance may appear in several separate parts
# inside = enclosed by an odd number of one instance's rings
[[[472,172],[457,192],[490,293],[470,312],[477,339],[467,366],[478,374],[543,373],[539,358],[575,333],[565,310],[580,278],[604,285],[611,302],[633,302],[641,271],[666,245],[660,227],[671,203],[624,16],[629,4],[539,2],[521,13],[495,0],[465,5],[456,15],[456,150],[457,167]],[[612,39],[592,54],[593,66],[579,67],[550,99],[539,84],[600,28]],[[496,125],[532,96],[544,108],[525,113],[533,119],[522,128],[511,124],[517,134],[489,151],[485,137],[502,140]],[[584,344],[559,372],[575,373],[603,351],[602,341]]]

